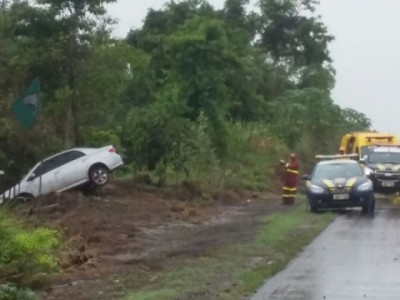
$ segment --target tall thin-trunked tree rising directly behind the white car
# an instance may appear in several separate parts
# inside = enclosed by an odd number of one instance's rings
[[[82,94],[79,93],[80,66],[90,57],[92,46],[99,37],[98,33],[106,30],[110,20],[105,15],[104,4],[115,0],[39,0],[38,3],[48,5],[43,8],[47,15],[51,15],[53,26],[59,30],[52,32],[49,37],[52,50],[58,52],[60,76],[55,98],[65,105],[65,145],[82,143],[79,119],[82,103]],[[38,28],[39,34],[41,19],[32,19],[30,28]],[[54,27],[51,27],[54,28]]]

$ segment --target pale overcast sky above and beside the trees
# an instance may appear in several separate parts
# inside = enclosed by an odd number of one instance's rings
[[[223,0],[209,0],[215,8]],[[330,45],[337,71],[332,98],[365,113],[374,129],[400,135],[400,0],[320,0],[318,14],[335,36]],[[140,27],[149,8],[165,0],[119,0],[108,6],[123,37]],[[398,104],[399,103],[399,104]]]

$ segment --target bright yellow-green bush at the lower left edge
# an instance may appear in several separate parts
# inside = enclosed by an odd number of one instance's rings
[[[53,255],[59,245],[59,233],[37,228],[26,230],[0,212],[0,279],[18,282],[32,280],[39,273],[57,269]]]

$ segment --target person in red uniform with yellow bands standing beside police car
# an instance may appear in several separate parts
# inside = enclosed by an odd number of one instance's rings
[[[284,205],[293,205],[297,194],[297,177],[299,175],[299,162],[296,153],[290,155],[290,162],[281,160],[285,167],[283,176],[283,194],[282,201]]]

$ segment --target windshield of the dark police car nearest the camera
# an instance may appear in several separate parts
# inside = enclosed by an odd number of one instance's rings
[[[316,166],[313,177],[316,179],[352,178],[363,176],[363,174],[358,164],[331,163]]]

